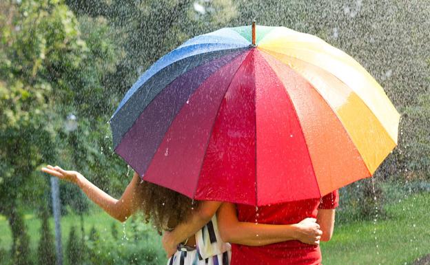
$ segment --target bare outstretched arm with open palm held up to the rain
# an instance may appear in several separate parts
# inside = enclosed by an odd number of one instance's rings
[[[99,205],[101,209],[120,222],[125,222],[125,220],[127,220],[127,218],[129,218],[130,215],[139,208],[139,205],[143,200],[143,197],[139,193],[140,178],[137,173],[134,173],[132,180],[128,184],[127,188],[125,188],[121,198],[116,200],[96,187],[96,185],[92,184],[79,172],[67,171],[61,169],[61,167],[52,167],[50,165],[43,167],[41,170],[52,176],[62,180],[68,180],[78,185],[90,200]]]

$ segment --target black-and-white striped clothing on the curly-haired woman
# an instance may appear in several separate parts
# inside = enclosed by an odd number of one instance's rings
[[[196,233],[196,248],[178,247],[167,265],[228,265],[232,252],[229,243],[221,240],[216,216]]]

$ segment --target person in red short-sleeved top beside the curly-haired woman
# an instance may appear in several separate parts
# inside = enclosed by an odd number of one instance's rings
[[[323,231],[321,241],[328,241],[334,229],[334,213],[338,206],[338,190],[323,198],[285,202],[268,206],[223,203],[218,210],[218,229],[225,242],[238,242],[244,229],[240,222],[262,224],[296,224],[303,218],[316,218]],[[256,235],[258,237],[259,235]],[[322,256],[318,244],[289,240],[265,246],[232,244],[231,265],[320,265]]]

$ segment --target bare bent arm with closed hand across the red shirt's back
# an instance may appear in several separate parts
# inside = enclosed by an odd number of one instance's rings
[[[321,231],[316,219],[306,218],[298,224],[254,224],[239,222],[236,206],[223,203],[217,213],[218,229],[224,242],[247,246],[264,246],[288,240],[319,244]]]

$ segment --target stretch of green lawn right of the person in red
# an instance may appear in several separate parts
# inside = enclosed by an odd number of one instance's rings
[[[335,225],[321,244],[323,264],[412,264],[430,253],[430,194],[411,195],[387,205],[388,220]]]

